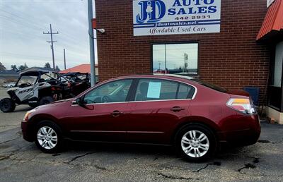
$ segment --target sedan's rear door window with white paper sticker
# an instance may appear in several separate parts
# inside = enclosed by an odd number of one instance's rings
[[[137,86],[135,101],[175,99],[178,83],[167,80],[141,79]]]

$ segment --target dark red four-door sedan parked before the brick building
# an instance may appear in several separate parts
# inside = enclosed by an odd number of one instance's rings
[[[64,139],[173,145],[186,159],[212,156],[221,142],[252,145],[260,121],[247,92],[180,75],[107,80],[74,99],[25,114],[23,138],[43,152]]]

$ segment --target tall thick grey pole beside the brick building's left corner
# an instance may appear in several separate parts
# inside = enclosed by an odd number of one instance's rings
[[[90,48],[90,61],[91,61],[91,87],[96,85],[96,63],[94,56],[94,41],[93,41],[93,1],[88,0],[88,34],[89,34],[89,48]]]

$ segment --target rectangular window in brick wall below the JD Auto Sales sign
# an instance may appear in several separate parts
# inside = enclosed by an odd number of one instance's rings
[[[154,73],[197,75],[198,44],[153,44]]]

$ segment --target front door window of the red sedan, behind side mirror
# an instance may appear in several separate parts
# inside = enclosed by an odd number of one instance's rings
[[[84,97],[86,104],[125,102],[129,93],[132,80],[118,80],[106,83],[92,90]]]

